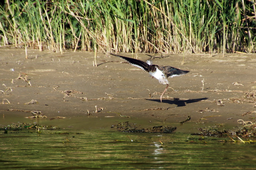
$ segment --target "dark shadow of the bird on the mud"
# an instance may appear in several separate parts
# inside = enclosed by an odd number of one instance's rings
[[[179,98],[175,98],[172,100],[162,99],[162,103],[174,104],[174,105],[177,105],[175,107],[181,107],[181,106],[186,106],[186,104],[188,103],[195,103],[195,102],[207,100],[207,99],[208,99],[207,97],[199,98],[199,99],[188,99],[188,100],[181,100]],[[146,99],[146,100],[161,102],[160,99]]]

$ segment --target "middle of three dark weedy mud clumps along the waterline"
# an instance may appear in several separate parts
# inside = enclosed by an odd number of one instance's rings
[[[139,129],[136,124],[129,122],[121,122],[115,125],[112,125],[111,128],[116,128],[121,132],[140,132],[140,133],[172,133],[176,127],[174,126],[154,126],[150,128]]]

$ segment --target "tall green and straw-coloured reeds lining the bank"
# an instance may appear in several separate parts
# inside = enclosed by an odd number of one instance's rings
[[[132,53],[255,52],[251,0],[6,0],[0,44]]]

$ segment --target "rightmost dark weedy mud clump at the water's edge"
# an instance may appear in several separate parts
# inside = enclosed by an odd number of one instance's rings
[[[224,129],[221,125],[198,128],[201,132],[193,135],[256,137],[256,126],[236,126],[233,129]]]

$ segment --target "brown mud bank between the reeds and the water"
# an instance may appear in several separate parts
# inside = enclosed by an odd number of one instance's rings
[[[185,133],[218,125],[254,126],[255,54],[186,54],[184,64],[182,54],[156,55],[154,64],[190,71],[169,78],[162,103],[166,85],[121,58],[97,56],[94,67],[90,52],[30,49],[25,59],[23,49],[0,48],[0,126],[20,122],[116,130],[112,125],[131,122],[140,129],[168,126]]]

